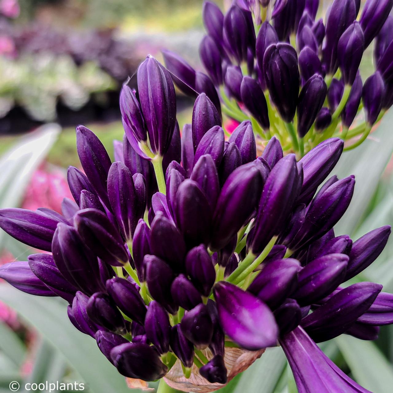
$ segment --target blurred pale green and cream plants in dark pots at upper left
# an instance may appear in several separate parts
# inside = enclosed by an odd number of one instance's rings
[[[95,62],[77,67],[68,56],[50,53],[24,55],[19,59],[0,57],[0,116],[17,103],[36,120],[56,118],[58,99],[78,110],[90,94],[112,90],[112,78]]]

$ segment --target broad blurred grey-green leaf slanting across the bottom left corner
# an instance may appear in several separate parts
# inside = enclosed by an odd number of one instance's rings
[[[129,393],[125,378],[99,351],[94,339],[73,327],[64,302],[29,296],[6,284],[0,285],[0,300],[17,310],[59,349],[92,393]]]

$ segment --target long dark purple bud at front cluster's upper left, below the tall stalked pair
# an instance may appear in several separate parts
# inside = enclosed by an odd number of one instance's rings
[[[107,180],[112,162],[104,145],[92,131],[80,125],[76,129],[76,147],[84,173],[86,173],[102,202],[107,208],[110,208]]]

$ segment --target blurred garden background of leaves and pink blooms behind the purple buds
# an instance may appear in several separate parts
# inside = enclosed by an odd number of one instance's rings
[[[200,68],[202,0],[20,0],[19,8],[17,17],[0,17],[0,207],[59,211],[62,198],[70,194],[66,168],[79,166],[75,125],[94,130],[113,158],[113,140],[123,137],[119,89],[141,59],[147,53],[160,58],[160,50],[169,48]],[[371,70],[369,48],[363,75]],[[191,120],[192,103],[179,95],[180,127]],[[52,121],[58,125],[42,126]],[[353,202],[337,235],[357,239],[393,224],[392,122],[393,113],[387,114],[361,147],[342,156],[334,171],[340,177],[356,175]],[[0,263],[26,260],[33,252],[0,233]],[[361,278],[393,292],[393,239]],[[382,327],[373,343],[342,336],[323,343],[322,349],[367,389],[392,391],[393,327]],[[64,302],[28,296],[0,283],[0,393],[9,392],[11,381],[21,386],[81,382],[92,393],[130,391],[94,340],[72,327]],[[278,348],[268,349],[220,390],[296,391]]]

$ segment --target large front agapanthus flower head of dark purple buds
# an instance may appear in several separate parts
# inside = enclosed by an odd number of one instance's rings
[[[283,45],[268,51],[281,56]],[[354,242],[334,233],[355,182],[326,180],[343,141],[322,141],[297,161],[272,138],[257,156],[252,122],[226,140],[204,93],[180,136],[173,92],[169,72],[147,57],[138,92],[121,92],[125,138],[114,163],[92,131],[77,127],[84,173],[69,168],[75,201],[64,199],[63,214],[0,210],[4,231],[51,254],[5,264],[0,277],[68,301],[73,325],[130,378],[169,380],[177,364],[184,378],[225,384],[231,348],[281,345],[299,391],[325,391],[328,380],[331,391],[365,392],[316,345],[343,333],[373,340],[393,323],[393,295],[381,285],[345,285],[391,230]]]

